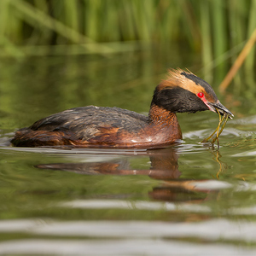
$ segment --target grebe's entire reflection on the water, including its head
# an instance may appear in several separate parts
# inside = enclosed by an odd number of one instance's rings
[[[148,169],[131,168],[126,158],[118,160],[104,160],[101,162],[54,163],[38,165],[40,169],[76,172],[84,175],[148,175],[148,177],[162,181],[160,186],[148,192],[149,198],[155,201],[203,201],[209,190],[196,188],[195,180],[180,178],[182,172],[178,170],[178,154],[176,148],[162,148],[147,150],[151,166]],[[201,193],[200,193],[201,192]]]

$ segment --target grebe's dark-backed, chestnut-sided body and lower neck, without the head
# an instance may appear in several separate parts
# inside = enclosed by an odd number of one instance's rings
[[[78,145],[90,147],[148,148],[182,138],[175,113],[161,109],[161,122],[122,108],[88,106],[53,114],[16,132],[20,147]],[[16,143],[17,142],[17,143]]]

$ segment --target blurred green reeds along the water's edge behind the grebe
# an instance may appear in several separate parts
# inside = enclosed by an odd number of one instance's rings
[[[201,55],[204,75],[220,82],[256,27],[255,13],[256,0],[1,0],[0,56],[177,45]],[[245,74],[254,88],[254,70],[255,49],[236,75],[237,91]]]

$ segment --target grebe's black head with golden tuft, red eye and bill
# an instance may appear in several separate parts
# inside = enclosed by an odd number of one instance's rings
[[[211,110],[222,115],[226,113],[230,118],[234,116],[219,102],[210,84],[181,69],[169,70],[168,79],[163,80],[154,90],[152,105],[172,113]]]

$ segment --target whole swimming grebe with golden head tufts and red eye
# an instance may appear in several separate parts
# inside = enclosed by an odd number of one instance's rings
[[[18,147],[153,148],[182,138],[177,112],[218,108],[232,114],[204,80],[182,70],[170,75],[154,90],[148,116],[122,108],[72,108],[16,131],[11,142]]]

